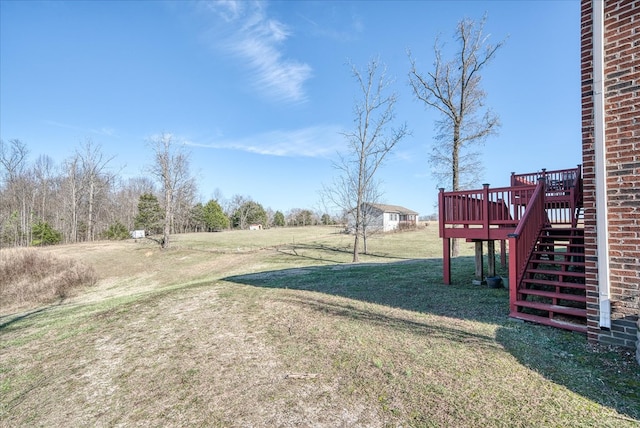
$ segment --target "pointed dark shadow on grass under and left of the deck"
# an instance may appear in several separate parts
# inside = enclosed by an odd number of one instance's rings
[[[315,291],[460,319],[504,320],[509,309],[507,290],[471,285],[472,257],[457,258],[452,269],[458,274],[450,286],[442,285],[441,259],[282,269],[224,280],[257,287]]]

